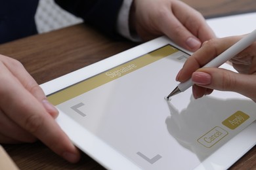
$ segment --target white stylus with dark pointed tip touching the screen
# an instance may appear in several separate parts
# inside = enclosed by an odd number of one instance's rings
[[[209,61],[203,67],[219,67],[223,65],[228,59],[233,58],[236,54],[242,52],[245,48],[247,48],[250,44],[256,41],[256,29],[242,38],[240,41],[236,42],[234,45],[230,46],[227,50],[221,53],[219,56],[214,58],[213,60]],[[193,85],[192,79],[190,78],[186,82],[180,83],[168,96],[169,97],[176,95],[178,93],[184,92],[188,88]]]

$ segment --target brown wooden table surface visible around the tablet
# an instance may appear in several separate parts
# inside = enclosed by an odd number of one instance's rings
[[[184,1],[202,12],[205,18],[256,11],[255,0]],[[21,61],[41,84],[136,45],[125,40],[114,41],[79,24],[1,44],[0,54]],[[68,163],[41,142],[3,146],[20,169],[104,169],[86,154],[79,163]],[[256,168],[256,146],[230,169],[253,168]]]

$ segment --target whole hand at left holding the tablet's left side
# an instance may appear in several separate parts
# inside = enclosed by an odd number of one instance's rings
[[[39,139],[66,160],[79,160],[79,151],[54,121],[58,110],[19,61],[2,55],[0,96],[0,143]]]

